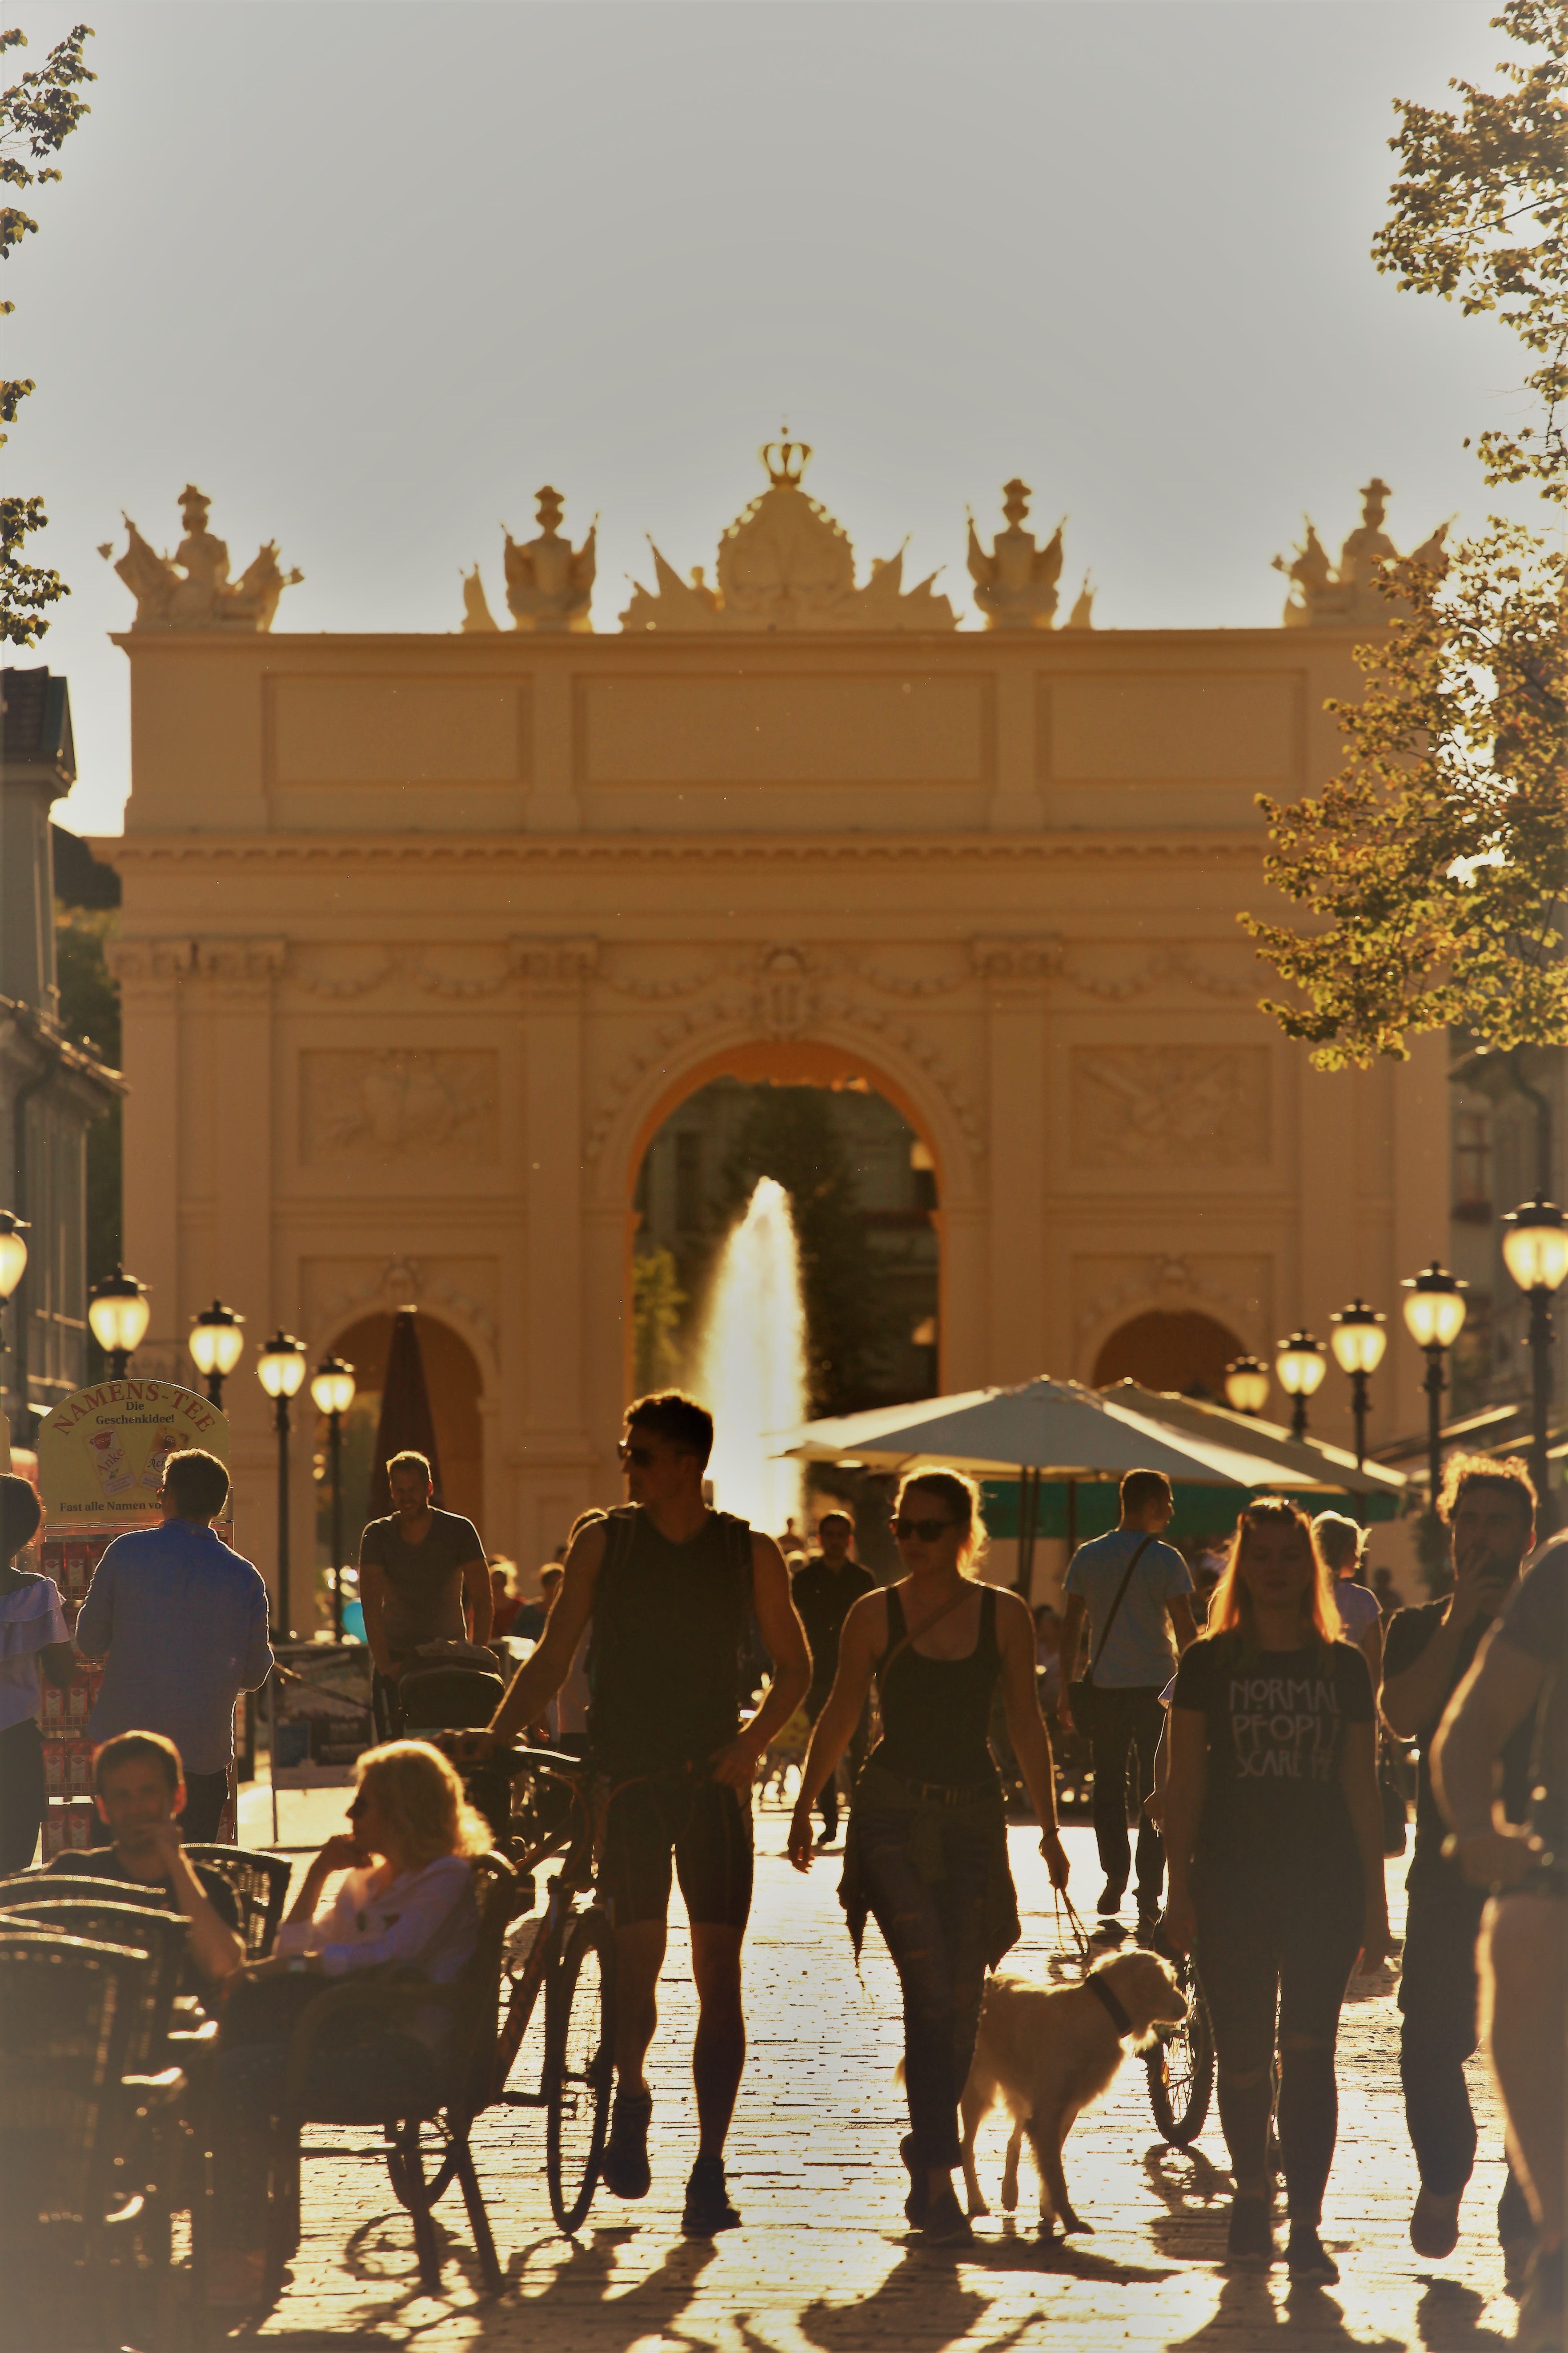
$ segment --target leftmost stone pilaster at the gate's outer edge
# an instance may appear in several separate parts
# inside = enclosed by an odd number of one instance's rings
[[[122,939],[108,951],[120,981],[120,1056],[136,1085],[125,1099],[125,1266],[150,1292],[150,1322],[139,1360],[150,1372],[176,1369],[179,1322],[179,1122],[181,1122],[181,981],[195,962],[190,939]]]

